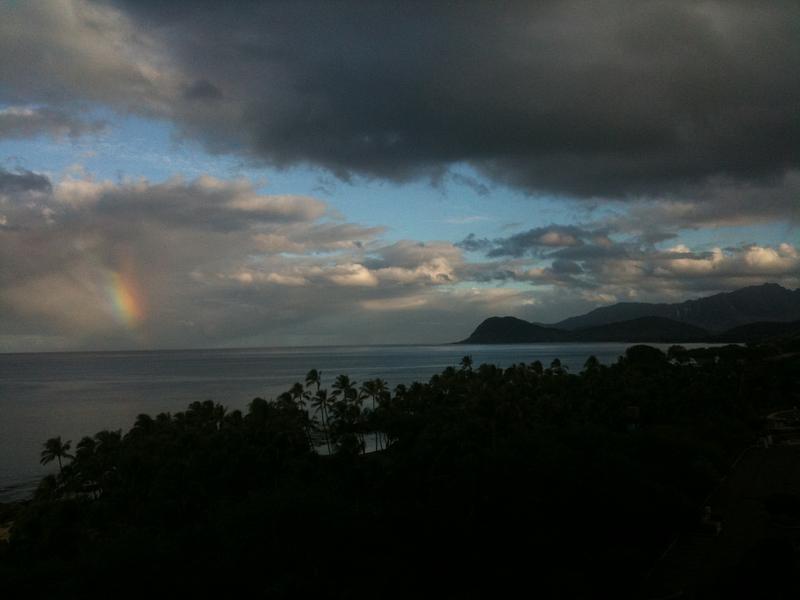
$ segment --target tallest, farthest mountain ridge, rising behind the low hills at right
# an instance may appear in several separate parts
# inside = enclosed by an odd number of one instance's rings
[[[676,304],[621,302],[564,319],[552,327],[577,330],[641,317],[663,317],[712,332],[759,321],[796,321],[800,320],[800,289],[765,283]]]

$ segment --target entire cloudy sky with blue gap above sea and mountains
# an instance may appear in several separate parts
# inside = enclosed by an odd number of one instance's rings
[[[796,2],[0,0],[0,352],[800,286]]]

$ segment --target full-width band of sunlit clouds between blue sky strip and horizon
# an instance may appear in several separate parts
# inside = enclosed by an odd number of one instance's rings
[[[788,241],[659,250],[558,224],[461,244],[385,235],[245,180],[0,169],[0,255],[13,257],[0,348],[444,342],[489,314],[554,321],[616,300],[800,286]],[[135,320],[120,314],[120,281]]]

